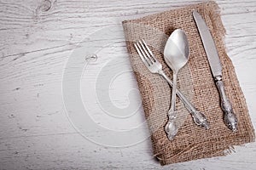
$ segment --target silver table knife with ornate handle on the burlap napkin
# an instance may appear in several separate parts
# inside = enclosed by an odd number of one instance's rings
[[[224,111],[224,123],[233,132],[236,132],[237,118],[232,109],[230,100],[227,99],[224,91],[224,82],[222,81],[222,65],[219,60],[217,48],[205,20],[203,20],[201,15],[195,10],[193,11],[193,17],[198,28],[201,41],[205,48],[207,59],[209,60],[212,76],[218,88],[218,93],[221,99],[221,108]]]

